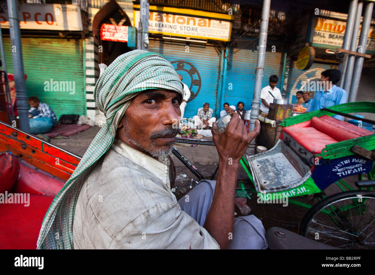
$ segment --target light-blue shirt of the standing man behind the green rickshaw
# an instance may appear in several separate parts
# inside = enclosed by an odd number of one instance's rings
[[[336,85],[333,85],[331,89],[329,89],[327,92],[318,91],[315,93],[311,106],[310,106],[310,111],[311,112],[317,111],[322,108],[327,108],[327,107],[331,107],[334,105],[347,103],[347,99],[348,99],[347,92],[344,89]],[[344,120],[344,117],[339,116],[338,114],[336,114],[333,117],[339,120]]]

